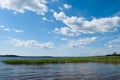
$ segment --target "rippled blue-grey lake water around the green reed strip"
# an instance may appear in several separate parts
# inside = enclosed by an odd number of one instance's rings
[[[13,58],[0,57],[0,60],[5,59]],[[7,65],[0,62],[0,80],[120,80],[120,65],[103,63]]]

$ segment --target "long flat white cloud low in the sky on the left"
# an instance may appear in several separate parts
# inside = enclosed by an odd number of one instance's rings
[[[23,41],[19,39],[12,39],[10,42],[13,43],[15,46],[38,47],[38,48],[46,48],[46,49],[54,48],[54,44],[51,42],[39,43],[35,40]]]

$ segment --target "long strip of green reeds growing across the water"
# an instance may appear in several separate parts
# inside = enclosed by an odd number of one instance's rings
[[[55,58],[55,59],[40,59],[40,60],[4,60],[6,64],[56,64],[56,63],[85,63],[85,62],[100,62],[118,64],[120,56],[102,56],[102,57],[76,57],[76,58]]]

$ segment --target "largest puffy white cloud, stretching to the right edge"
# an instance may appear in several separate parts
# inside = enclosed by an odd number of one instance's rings
[[[62,21],[67,27],[62,27],[58,29],[59,33],[63,34],[61,30],[68,29],[74,34],[95,34],[95,33],[105,33],[105,32],[114,32],[120,27],[120,17],[107,17],[107,18],[93,18],[92,20],[87,20],[84,17],[68,17],[64,12],[56,13],[54,12],[54,17],[56,20]],[[71,33],[70,33],[71,34]],[[71,36],[67,33],[68,36]],[[66,35],[66,34],[65,34]],[[74,36],[74,35],[73,35]]]

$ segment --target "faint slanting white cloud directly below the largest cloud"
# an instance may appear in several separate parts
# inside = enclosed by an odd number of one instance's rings
[[[96,41],[98,38],[97,37],[91,37],[91,38],[84,38],[84,39],[79,39],[79,40],[74,40],[69,42],[70,47],[81,47],[83,45],[87,45],[91,42]]]

